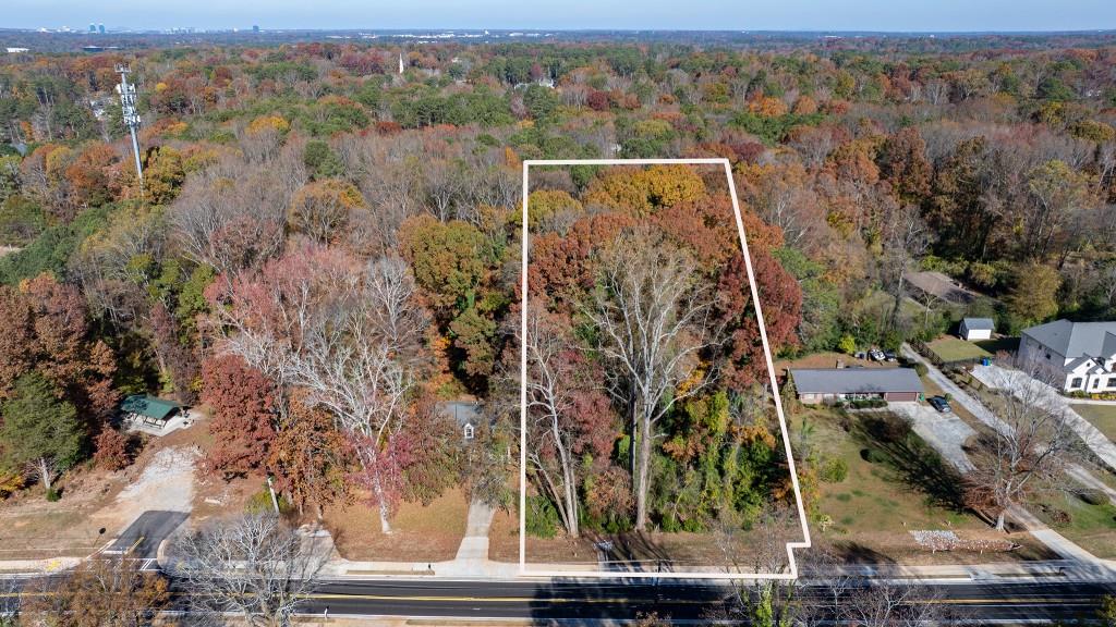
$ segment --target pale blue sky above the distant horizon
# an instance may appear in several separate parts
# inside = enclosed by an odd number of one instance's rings
[[[1116,0],[0,0],[0,28],[1042,31]]]

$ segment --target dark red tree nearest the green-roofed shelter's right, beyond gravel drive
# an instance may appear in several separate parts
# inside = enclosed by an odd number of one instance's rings
[[[213,357],[202,366],[202,402],[210,406],[214,441],[206,470],[231,476],[263,465],[276,437],[271,382],[240,357]]]

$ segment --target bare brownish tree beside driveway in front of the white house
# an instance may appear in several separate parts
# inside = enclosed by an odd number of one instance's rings
[[[1035,373],[1038,375],[1038,373]],[[997,511],[995,528],[1042,480],[1057,479],[1074,433],[1058,406],[1029,373],[1011,370],[997,390],[998,416],[1003,425],[982,440],[974,455],[975,469],[965,478],[966,498],[973,507]]]

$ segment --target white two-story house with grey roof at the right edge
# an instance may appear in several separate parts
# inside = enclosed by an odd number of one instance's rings
[[[1067,393],[1116,393],[1116,322],[1055,320],[1026,329],[1019,365]]]

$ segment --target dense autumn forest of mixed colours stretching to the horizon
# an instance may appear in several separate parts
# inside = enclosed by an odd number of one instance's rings
[[[115,407],[152,393],[209,408],[210,472],[266,471],[306,515],[360,496],[388,530],[455,484],[510,505],[526,226],[529,428],[554,434],[528,452],[532,532],[786,501],[723,174],[543,171],[523,225],[528,158],[729,160],[780,355],[947,329],[902,306],[917,269],[1003,331],[1116,316],[1110,38],[780,41],[0,58],[0,493],[127,464]],[[641,387],[608,331],[648,286],[673,296],[645,312],[684,324]],[[471,454],[455,398],[491,418]]]

